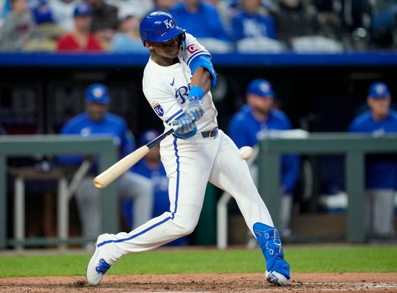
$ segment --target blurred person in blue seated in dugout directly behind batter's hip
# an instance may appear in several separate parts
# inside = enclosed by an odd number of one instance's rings
[[[149,141],[153,140],[160,133],[157,130],[150,129],[143,132],[139,137],[140,145],[145,145]],[[142,175],[151,180],[153,184],[154,202],[152,217],[158,217],[164,212],[170,211],[170,199],[168,196],[168,178],[165,172],[164,166],[160,160],[160,146],[153,147],[149,153],[143,157],[135,166],[132,167],[132,171]],[[125,202],[125,215],[129,221],[132,218],[129,213],[132,211],[130,208],[130,202]],[[189,237],[184,236],[176,239],[167,245],[187,245],[189,244]]]

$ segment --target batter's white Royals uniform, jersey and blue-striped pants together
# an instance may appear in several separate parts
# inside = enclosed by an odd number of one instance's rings
[[[144,70],[143,92],[166,129],[186,109],[192,78],[189,63],[196,56],[209,55],[192,35],[186,34],[186,41],[187,50],[178,56],[180,63],[162,67],[150,59]],[[208,181],[236,199],[253,233],[255,223],[273,226],[237,146],[222,130],[212,137],[201,135],[217,126],[211,93],[201,100],[205,113],[195,121],[197,134],[189,139],[169,135],[160,143],[161,161],[169,178],[169,211],[130,233],[102,234],[97,247],[108,264],[190,234],[199,221]]]

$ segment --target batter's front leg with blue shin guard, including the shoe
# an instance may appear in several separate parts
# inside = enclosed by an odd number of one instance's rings
[[[244,219],[257,238],[266,260],[266,281],[285,286],[290,279],[289,264],[277,229],[251,178],[247,163],[239,157],[233,141],[219,131],[220,147],[209,181],[232,195]]]

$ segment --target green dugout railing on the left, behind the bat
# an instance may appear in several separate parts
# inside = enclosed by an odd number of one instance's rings
[[[50,135],[4,135],[0,136],[0,249],[11,247],[23,247],[24,245],[51,245],[51,244],[81,244],[84,239],[71,238],[65,234],[65,229],[58,229],[58,237],[49,238],[25,238],[24,235],[14,235],[12,239],[7,239],[7,158],[28,157],[36,154],[44,155],[99,155],[98,168],[102,172],[113,165],[118,158],[116,146],[112,138],[82,138],[80,136],[61,136]],[[116,185],[110,184],[101,192],[103,214],[102,229],[104,231],[118,232],[118,196],[116,196]],[[60,201],[58,201],[60,204]],[[67,210],[68,202],[61,202],[60,210]],[[66,205],[66,206],[65,206]],[[15,207],[14,207],[15,208]],[[65,213],[58,217],[58,227],[60,221],[65,220]],[[15,223],[12,223],[15,225]],[[19,225],[19,224],[18,224]],[[17,227],[17,230],[21,230]],[[67,229],[67,228],[66,228]],[[20,239],[17,239],[18,236]]]

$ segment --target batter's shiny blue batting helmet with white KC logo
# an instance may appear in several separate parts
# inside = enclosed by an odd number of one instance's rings
[[[171,14],[156,11],[147,14],[139,24],[140,39],[145,41],[162,43],[184,33],[186,29],[179,27]]]

